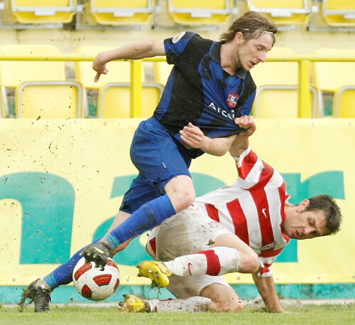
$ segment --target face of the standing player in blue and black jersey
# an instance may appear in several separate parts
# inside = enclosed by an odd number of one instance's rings
[[[262,33],[256,39],[245,41],[241,34],[236,35],[236,42],[239,43],[239,49],[234,56],[236,65],[249,71],[258,63],[265,62],[266,54],[273,47],[273,36],[270,33]]]

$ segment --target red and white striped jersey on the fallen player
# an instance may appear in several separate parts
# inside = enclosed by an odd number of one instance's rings
[[[249,245],[259,256],[261,275],[267,277],[290,241],[283,229],[289,195],[283,177],[250,147],[236,159],[236,167],[235,183],[196,198],[194,206]]]

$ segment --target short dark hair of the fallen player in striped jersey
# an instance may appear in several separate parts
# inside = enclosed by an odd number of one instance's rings
[[[310,204],[305,208],[305,211],[324,211],[328,229],[328,233],[324,235],[334,235],[337,233],[340,230],[340,224],[342,223],[342,213],[334,198],[328,194],[321,194],[319,196],[308,198],[308,200],[310,201]]]

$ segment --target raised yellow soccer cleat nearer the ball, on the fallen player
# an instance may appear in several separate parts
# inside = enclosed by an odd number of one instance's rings
[[[153,287],[164,288],[168,287],[171,275],[168,267],[162,262],[143,261],[137,265],[138,277],[148,277],[152,280]]]

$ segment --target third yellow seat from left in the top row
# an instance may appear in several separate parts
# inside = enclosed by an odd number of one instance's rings
[[[233,4],[233,0],[168,0],[168,14],[182,25],[226,23]]]

